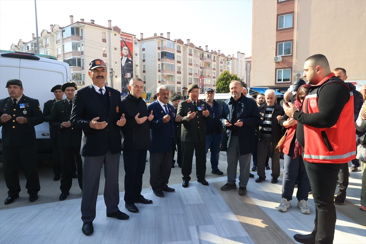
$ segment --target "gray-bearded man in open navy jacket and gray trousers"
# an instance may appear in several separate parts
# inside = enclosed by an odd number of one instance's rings
[[[255,125],[260,121],[259,110],[254,100],[240,93],[242,83],[233,80],[229,85],[231,98],[226,100],[221,110],[220,120],[226,127],[228,183],[220,189],[235,189],[236,168],[240,167],[239,195],[245,195],[250,173],[251,153],[255,145]]]

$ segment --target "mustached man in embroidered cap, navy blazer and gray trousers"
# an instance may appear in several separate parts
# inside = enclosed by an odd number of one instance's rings
[[[93,233],[101,167],[104,164],[104,202],[107,217],[128,219],[118,209],[119,156],[122,150],[120,127],[126,123],[120,111],[119,91],[105,86],[107,66],[101,59],[90,61],[88,74],[92,84],[75,93],[71,124],[83,130],[80,154],[83,160],[82,231]],[[98,121],[99,120],[99,121]]]

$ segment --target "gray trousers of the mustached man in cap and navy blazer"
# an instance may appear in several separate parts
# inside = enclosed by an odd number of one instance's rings
[[[81,157],[83,160],[83,197],[81,200],[81,219],[93,221],[96,216],[96,204],[99,189],[100,171],[104,164],[104,202],[107,213],[115,213],[119,204],[119,153],[111,151],[104,156]]]

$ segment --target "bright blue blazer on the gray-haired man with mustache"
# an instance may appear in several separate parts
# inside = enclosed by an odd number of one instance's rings
[[[157,100],[147,106],[149,114],[153,111],[154,115],[154,119],[150,121],[151,147],[148,149],[150,153],[165,153],[167,151],[172,151],[175,145],[174,108],[168,103],[167,106],[170,115],[170,120],[167,123],[163,122],[163,117],[167,115],[167,113],[165,113],[165,109],[161,107]]]

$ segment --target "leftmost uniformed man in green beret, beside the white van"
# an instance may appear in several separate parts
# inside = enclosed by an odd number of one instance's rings
[[[23,83],[18,79],[8,80],[5,86],[10,97],[0,100],[0,127],[3,146],[4,178],[8,198],[4,204],[19,198],[19,163],[27,179],[29,201],[38,199],[40,180],[37,172],[36,131],[34,126],[43,123],[40,103],[23,95]]]

